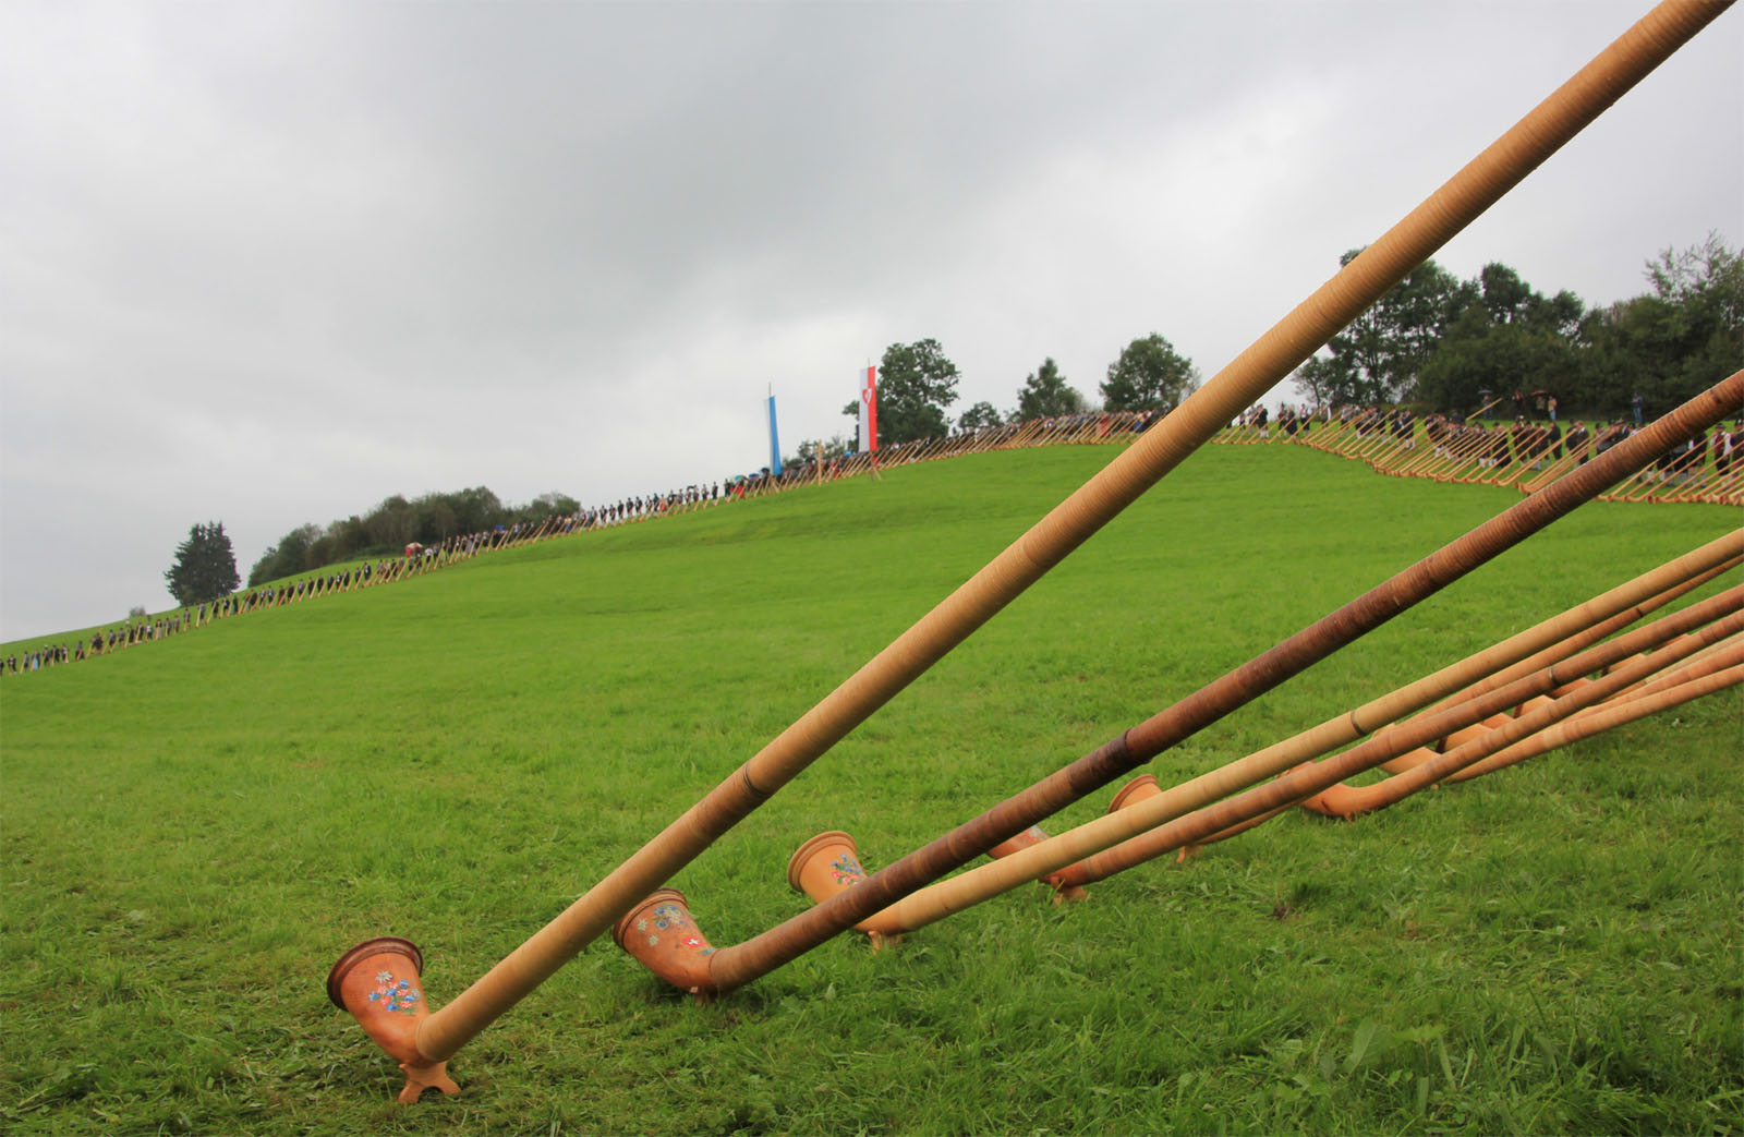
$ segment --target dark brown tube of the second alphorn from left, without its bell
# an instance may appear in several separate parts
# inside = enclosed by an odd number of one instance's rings
[[[1120,774],[1148,762],[1177,741],[1189,738],[1193,732],[1210,725],[1223,715],[1270,691],[1277,684],[1282,684],[1285,678],[1291,678],[1334,650],[1348,645],[1355,638],[1373,631],[1418,600],[1439,591],[1512,544],[1524,541],[1528,535],[1563,516],[1582,500],[1587,500],[1601,488],[1611,485],[1617,478],[1627,476],[1632,469],[1645,466],[1666,446],[1688,438],[1690,432],[1725,417],[1741,398],[1744,398],[1744,371],[1734,373],[1730,378],[1714,385],[1702,396],[1697,396],[1664,419],[1659,419],[1629,441],[1613,446],[1604,459],[1591,462],[1563,481],[1557,481],[1543,492],[1521,500],[1484,525],[1479,525],[1465,537],[1460,537],[1453,544],[1397,574],[1385,584],[1376,586],[1369,593],[1346,603],[1343,609],[1322,617],[1303,631],[1298,631],[1263,656],[1250,659],[1223,678],[1207,684],[1193,696],[1188,696],[1181,703],[1175,703],[1168,710],[1127,731],[1114,741],[1100,746],[1083,759],[1078,759],[1071,766],[1055,771],[1048,778],[1043,778],[1029,790],[1006,799],[978,818],[959,825],[950,834],[945,834],[931,844],[903,856],[881,872],[872,874],[862,884],[818,903],[811,910],[802,912],[800,916],[795,916],[752,940],[720,949],[710,957],[710,973],[715,978],[715,987],[719,991],[729,991],[757,978],[759,975],[773,971],[783,963],[788,963],[790,959],[795,959],[806,950],[811,950],[818,943],[828,940],[842,928],[856,924],[874,912],[881,912],[907,893],[912,893],[917,888],[937,881],[952,868],[961,867],[978,851],[1005,839],[1015,828],[1032,825],[1048,814],[1057,813],[1073,800],[1078,800],[1097,786],[1107,785]],[[1524,691],[1512,701],[1491,706],[1482,713],[1491,713],[1500,706],[1512,706],[1523,698],[1538,692],[1540,689]],[[1472,722],[1479,715],[1472,715],[1472,718],[1453,722],[1451,725],[1467,725],[1467,722]],[[1430,734],[1427,739],[1441,738],[1446,732],[1448,731]],[[1381,757],[1385,759],[1392,755],[1388,753]],[[1214,774],[1216,773],[1221,771],[1214,771]],[[1198,781],[1203,783],[1203,780]],[[1247,783],[1243,781],[1236,785]],[[1231,785],[1230,788],[1224,788],[1209,800],[1223,797],[1231,792],[1231,788],[1235,786]],[[1324,786],[1315,786],[1313,792],[1318,792],[1320,788]],[[1141,802],[1141,806],[1151,806],[1151,802]],[[1127,814],[1135,811],[1137,807],[1121,813]],[[1235,818],[1235,821],[1242,820],[1247,818]],[[1127,835],[1130,835],[1130,832],[1123,834],[1123,837]],[[1046,842],[1046,846],[1053,846],[1053,841]],[[1034,846],[1022,853],[1015,853],[999,861],[999,865],[1012,867],[1010,870],[1017,874],[1027,872],[1036,865],[1036,860],[1032,858],[1036,849],[1046,846]],[[1066,861],[1050,861],[1046,868],[1031,872],[1029,879],[1046,875],[1064,865]],[[985,874],[992,867],[982,867],[973,872]],[[1062,874],[1060,882],[1062,886],[1083,886],[1087,881]]]

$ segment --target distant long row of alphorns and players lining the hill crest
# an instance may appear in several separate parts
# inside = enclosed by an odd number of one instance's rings
[[[984,427],[930,438],[834,460],[809,460],[783,467],[781,474],[753,474],[717,492],[677,490],[671,494],[626,499],[574,514],[521,521],[490,532],[455,535],[438,546],[408,544],[398,558],[380,558],[303,577],[249,588],[209,603],[192,605],[155,619],[126,621],[78,635],[68,642],[45,643],[35,650],[10,654],[0,673],[23,675],[110,656],[143,643],[204,628],[267,609],[277,609],[321,596],[405,581],[464,560],[516,548],[534,541],[567,537],[581,532],[614,528],[633,521],[692,513],[746,497],[764,497],[792,488],[877,474],[881,469],[933,459],[1013,450],[1029,446],[1123,443],[1146,431],[1162,413],[1081,413],[1036,419],[998,427]],[[1488,483],[1533,492],[1575,466],[1604,453],[1638,427],[1617,422],[1587,429],[1575,422],[1564,432],[1556,420],[1489,424],[1381,408],[1324,408],[1296,412],[1284,408],[1277,419],[1250,412],[1212,441],[1230,445],[1306,445],[1327,453],[1366,460],[1373,469],[1393,476],[1434,478],[1437,481]],[[1720,502],[1744,504],[1744,426],[1714,427],[1706,439],[1660,455],[1652,469],[1618,485],[1601,500],[1639,502]]]

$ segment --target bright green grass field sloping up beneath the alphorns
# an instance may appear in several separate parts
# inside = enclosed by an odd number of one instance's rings
[[[448,1001],[1111,453],[903,467],[7,677],[0,1132],[1744,1130],[1735,691],[1081,905],[842,936],[712,1006],[603,938],[455,1057],[462,1095],[392,1104],[326,1001],[344,949],[408,936]],[[806,903],[783,874],[811,834],[884,865],[1516,500],[1209,448],[673,884],[746,938]],[[1589,506],[1149,769],[1739,520]]]

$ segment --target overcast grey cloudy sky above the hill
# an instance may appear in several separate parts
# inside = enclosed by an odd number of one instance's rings
[[[1646,10],[1400,3],[0,5],[0,638],[171,603],[221,520],[595,504],[849,432],[1217,371]],[[1730,12],[1437,258],[1589,305],[1744,241]],[[1284,392],[1280,392],[1282,396]]]

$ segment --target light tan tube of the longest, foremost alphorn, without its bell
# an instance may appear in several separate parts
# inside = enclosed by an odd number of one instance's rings
[[[1139,494],[1179,466],[1198,445],[1233,419],[1242,406],[1261,398],[1273,384],[1289,375],[1339,328],[1434,255],[1727,7],[1730,7],[1730,0],[1714,3],[1666,0],[1648,12],[1442,188],[1243,351],[1205,387],[1146,431],[1125,453],[1109,462],[1005,553],[710,790],[703,800],[460,992],[453,1003],[422,1018],[413,1039],[417,1057],[413,1066],[417,1062],[434,1066],[450,1059],[490,1022],[598,938],[605,928],[628,914],[652,888],[684,868],[717,837],[968,638],[1048,568],[1088,541]],[[1732,403],[1737,399],[1734,398]],[[1655,432],[1643,431],[1636,438],[1650,434]],[[1010,837],[1031,823],[1034,820],[1012,818],[1008,827],[996,825],[994,828],[1005,828],[1005,832],[996,832],[994,839],[980,848]],[[940,872],[964,863],[978,851],[963,849],[945,856],[947,865]],[[869,889],[877,875],[867,884],[849,889],[844,896]],[[900,879],[900,875],[891,879]],[[872,895],[875,896],[877,889],[872,889]],[[820,905],[814,912],[827,907]],[[884,903],[874,907],[884,907]],[[853,919],[863,919],[869,914],[870,910]],[[717,956],[720,954],[717,952]]]

